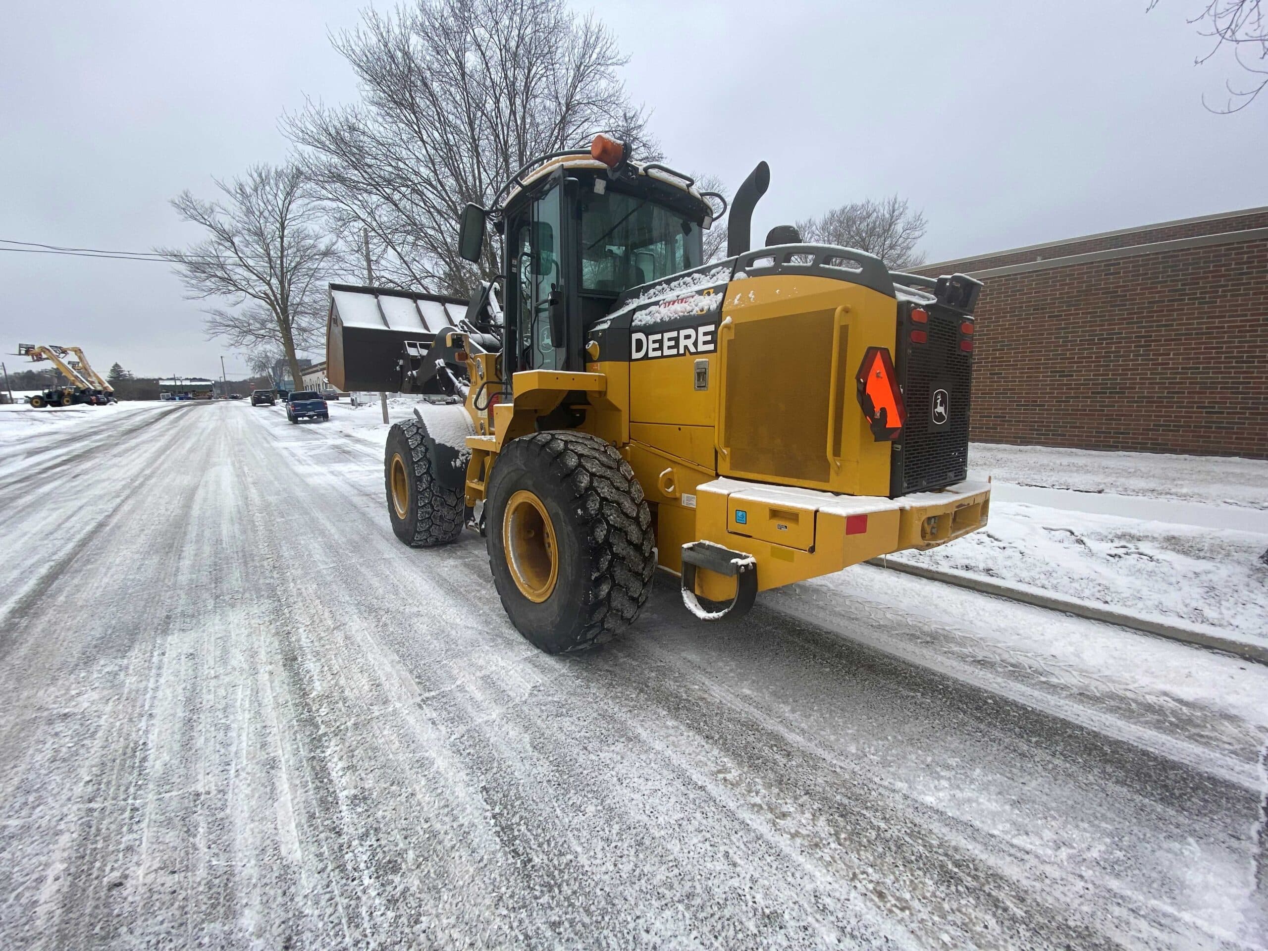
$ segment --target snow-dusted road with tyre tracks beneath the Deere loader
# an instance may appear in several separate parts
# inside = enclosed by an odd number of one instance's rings
[[[547,657],[356,412],[0,445],[0,947],[1268,946],[1268,668],[866,567]]]

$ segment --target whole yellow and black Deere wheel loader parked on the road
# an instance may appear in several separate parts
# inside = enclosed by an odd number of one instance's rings
[[[723,197],[597,136],[467,205],[462,256],[489,260],[488,226],[503,254],[465,304],[331,288],[330,380],[436,401],[388,434],[394,533],[481,531],[544,650],[631,624],[657,566],[721,620],[987,522],[989,486],[966,482],[981,285],[787,226],[751,250],[768,183],[762,162],[732,202],[729,257],[705,264]]]

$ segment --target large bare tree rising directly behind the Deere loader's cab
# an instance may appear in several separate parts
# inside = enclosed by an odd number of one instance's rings
[[[615,39],[564,0],[417,0],[366,10],[333,43],[360,103],[309,103],[283,126],[349,260],[369,231],[379,283],[465,293],[495,275],[492,240],[478,269],[458,257],[459,214],[535,156],[611,132],[637,157],[659,157]]]

